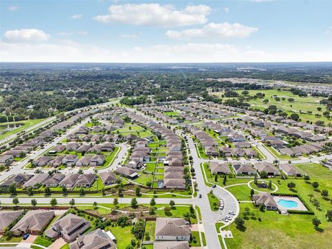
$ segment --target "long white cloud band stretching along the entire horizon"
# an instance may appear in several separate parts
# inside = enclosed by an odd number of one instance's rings
[[[61,44],[0,42],[3,62],[329,62],[332,50],[269,53],[232,44],[159,44],[128,50],[62,41]]]

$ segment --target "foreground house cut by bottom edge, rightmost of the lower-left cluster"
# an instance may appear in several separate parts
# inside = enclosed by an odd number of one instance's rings
[[[78,237],[74,242],[69,244],[70,249],[97,249],[107,248],[116,249],[116,243],[107,235],[104,230],[98,228],[92,232]]]

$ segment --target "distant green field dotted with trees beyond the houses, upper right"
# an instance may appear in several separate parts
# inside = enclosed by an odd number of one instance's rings
[[[237,91],[239,94],[241,94],[243,90]],[[254,99],[249,100],[248,103],[251,107],[255,107],[261,110],[264,110],[268,108],[270,105],[277,106],[278,109],[282,109],[286,111],[288,114],[291,114],[292,112],[298,113],[299,117],[302,118],[302,121],[317,121],[322,120],[325,122],[330,122],[328,119],[324,118],[322,116],[321,118],[316,118],[315,113],[322,114],[324,111],[326,111],[326,106],[320,104],[320,100],[322,100],[322,97],[299,97],[298,95],[293,95],[290,91],[277,91],[277,89],[271,89],[271,90],[249,90],[249,95],[253,96],[256,93],[264,93],[265,98],[268,100],[268,103],[264,103],[264,99]],[[211,93],[213,95],[221,96],[223,92],[220,93]],[[280,101],[275,100],[273,96],[276,95],[280,98]],[[286,98],[286,100],[282,100],[282,98]],[[294,102],[288,102],[288,98],[293,98]],[[223,100],[227,100],[228,98],[223,98]],[[230,98],[232,99],[232,98]],[[322,111],[317,111],[317,107],[322,107]],[[313,114],[302,114],[299,113],[299,111],[312,111]]]

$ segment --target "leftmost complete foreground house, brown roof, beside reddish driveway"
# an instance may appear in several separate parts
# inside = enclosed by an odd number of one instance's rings
[[[50,223],[54,216],[54,211],[30,210],[10,231],[17,236],[27,233],[37,235],[46,228],[46,225]]]

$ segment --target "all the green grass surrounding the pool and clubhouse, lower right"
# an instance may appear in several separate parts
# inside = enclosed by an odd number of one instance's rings
[[[304,181],[303,178],[288,178],[281,180],[273,178],[279,190],[277,193],[299,194],[304,202],[315,215],[309,214],[290,214],[283,216],[277,212],[267,211],[260,212],[254,208],[251,203],[240,203],[240,216],[243,216],[245,208],[250,209],[250,216],[246,218],[245,229],[237,229],[230,225],[230,230],[234,239],[226,239],[229,248],[330,248],[331,242],[329,237],[332,235],[332,223],[326,221],[326,211],[331,210],[331,200],[323,199],[322,190],[332,192],[332,171],[318,164],[295,165],[302,173],[311,177],[310,181]],[[278,180],[279,182],[278,183]],[[296,185],[294,190],[287,187],[287,183],[293,181]],[[314,190],[311,183],[317,181],[319,187]],[[228,187],[228,190],[239,200],[248,200],[250,189],[247,185]],[[317,209],[311,203],[309,194],[313,194],[312,199],[320,202],[320,208]],[[331,197],[330,197],[331,198]],[[322,221],[320,228],[313,228],[312,219],[317,217]],[[261,218],[261,222],[258,221]]]

